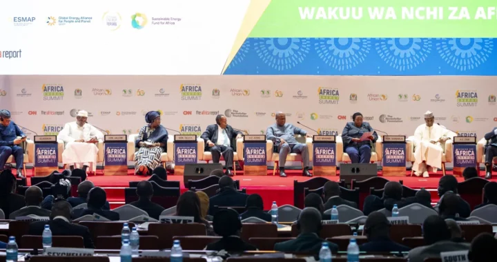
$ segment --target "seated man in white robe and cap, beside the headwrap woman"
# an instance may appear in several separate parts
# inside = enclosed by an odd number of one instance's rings
[[[62,163],[68,164],[70,170],[74,169],[75,163],[83,163],[86,171],[90,163],[95,167],[97,164],[98,148],[96,143],[104,138],[104,134],[89,123],[88,112],[79,110],[75,122],[66,123],[64,129],[59,132],[59,139],[64,141],[66,148],[62,153]]]

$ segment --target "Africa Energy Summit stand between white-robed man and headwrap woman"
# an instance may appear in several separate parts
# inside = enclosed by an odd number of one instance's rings
[[[104,175],[128,175],[128,137],[126,134],[107,134],[104,137]]]

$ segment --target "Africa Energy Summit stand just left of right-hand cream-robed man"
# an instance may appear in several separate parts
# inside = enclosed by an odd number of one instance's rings
[[[383,136],[383,176],[405,177],[406,142],[405,136]]]

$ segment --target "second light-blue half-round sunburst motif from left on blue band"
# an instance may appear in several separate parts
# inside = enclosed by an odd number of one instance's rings
[[[367,38],[321,38],[315,41],[318,57],[327,66],[339,71],[351,69],[364,62],[371,49],[371,41]]]

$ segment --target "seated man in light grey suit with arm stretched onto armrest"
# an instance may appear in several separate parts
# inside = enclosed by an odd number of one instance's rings
[[[284,165],[286,156],[291,152],[302,155],[304,164],[302,175],[312,177],[309,172],[309,149],[307,144],[298,143],[297,139],[295,139],[295,134],[301,134],[306,137],[311,137],[311,135],[291,123],[286,123],[286,116],[283,112],[277,112],[275,117],[276,123],[266,130],[266,138],[272,140],[275,147],[277,147],[277,152],[280,152],[280,177],[286,177]]]

